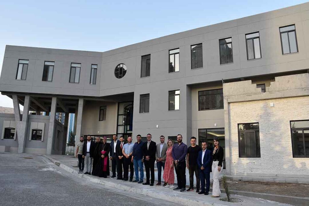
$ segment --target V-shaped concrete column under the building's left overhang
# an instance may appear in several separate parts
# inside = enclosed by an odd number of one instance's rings
[[[19,101],[17,95],[13,95],[13,105],[14,105],[16,132],[18,139],[18,153],[24,153],[27,139],[30,96],[29,95],[25,96],[22,119],[20,118]]]

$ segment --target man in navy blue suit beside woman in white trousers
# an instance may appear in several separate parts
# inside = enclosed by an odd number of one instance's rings
[[[212,152],[207,148],[207,142],[202,142],[202,150],[198,152],[197,165],[200,170],[201,179],[201,191],[198,194],[208,195],[210,187],[210,170],[211,170],[211,159]],[[206,190],[205,190],[206,180]]]

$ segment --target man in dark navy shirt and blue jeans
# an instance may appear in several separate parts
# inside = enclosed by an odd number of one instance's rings
[[[144,182],[144,166],[143,166],[143,142],[142,136],[137,135],[136,136],[137,142],[135,142],[133,146],[133,152],[132,152],[132,158],[131,162],[134,164],[134,169],[135,169],[135,180],[133,182],[137,182],[139,184]],[[140,177],[138,176],[138,170],[140,173]]]

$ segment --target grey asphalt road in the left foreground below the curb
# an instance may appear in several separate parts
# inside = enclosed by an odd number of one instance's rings
[[[0,153],[0,205],[176,204],[86,182],[55,166],[43,156]]]

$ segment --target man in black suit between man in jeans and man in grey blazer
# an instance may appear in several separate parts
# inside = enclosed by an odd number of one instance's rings
[[[155,182],[155,152],[157,150],[156,143],[151,141],[151,134],[147,134],[147,142],[143,145],[144,165],[146,170],[146,183],[143,185],[154,186]],[[151,181],[149,182],[151,173]]]

